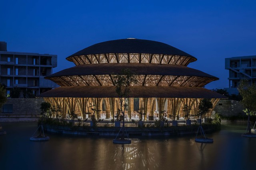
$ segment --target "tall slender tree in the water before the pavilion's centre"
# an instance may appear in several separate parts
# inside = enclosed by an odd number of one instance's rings
[[[125,109],[128,106],[126,104],[126,99],[130,94],[130,86],[133,83],[136,83],[136,77],[129,69],[122,69],[121,74],[114,76],[114,84],[116,86],[116,93],[118,94],[118,99],[120,102],[120,111],[123,117]],[[122,127],[124,127],[124,119]],[[122,133],[122,139],[124,139],[124,128]]]

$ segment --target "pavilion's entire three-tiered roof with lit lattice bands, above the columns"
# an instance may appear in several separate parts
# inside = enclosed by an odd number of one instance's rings
[[[129,97],[224,98],[202,88],[218,78],[187,67],[196,61],[195,57],[157,41],[106,41],[78,51],[67,60],[76,66],[46,77],[62,87],[41,97],[117,97],[114,77],[126,68],[137,80]]]

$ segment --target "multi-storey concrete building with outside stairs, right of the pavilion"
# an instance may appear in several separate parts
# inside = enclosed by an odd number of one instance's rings
[[[229,70],[229,88],[224,90],[229,94],[238,94],[240,80],[256,83],[256,55],[226,58],[225,69]]]

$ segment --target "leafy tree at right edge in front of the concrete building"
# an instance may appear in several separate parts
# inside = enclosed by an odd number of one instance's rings
[[[250,85],[248,81],[241,81],[238,86],[238,91],[242,96],[242,104],[244,105],[244,112],[248,115],[248,123],[246,133],[249,131],[251,133],[250,128],[250,116],[256,114],[256,85]]]

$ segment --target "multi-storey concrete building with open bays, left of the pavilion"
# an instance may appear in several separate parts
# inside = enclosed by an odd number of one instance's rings
[[[0,82],[6,85],[7,96],[12,88],[20,88],[20,97],[26,92],[35,96],[58,85],[44,79],[57,66],[57,55],[7,51],[7,43],[0,41]]]

